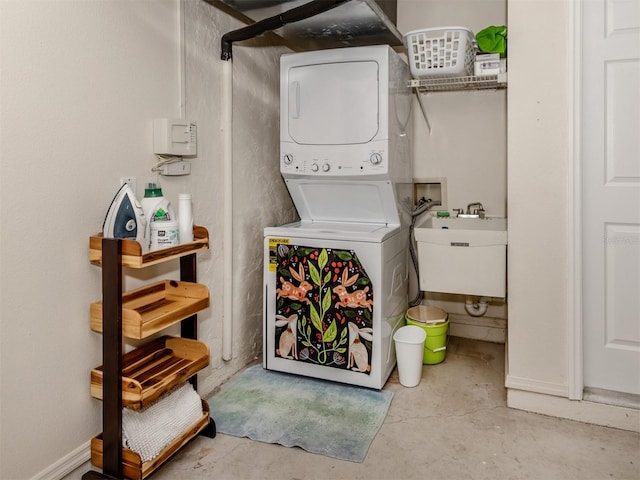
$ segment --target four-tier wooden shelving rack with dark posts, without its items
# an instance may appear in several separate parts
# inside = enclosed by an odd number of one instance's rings
[[[197,388],[195,375],[209,364],[209,349],[197,340],[196,314],[209,306],[208,289],[196,283],[196,252],[208,248],[208,232],[197,226],[193,242],[146,254],[133,240],[90,237],[89,261],[102,266],[102,301],[91,305],[91,328],[102,333],[103,360],[91,372],[91,395],[102,399],[103,419],[102,433],[91,440],[91,463],[102,473],[86,472],[83,480],[142,480],[196,435],[215,437],[215,422],[202,400],[202,417],[156,458],[143,463],[122,445],[123,406],[143,408],[187,380]],[[123,294],[123,267],[145,268],[174,259],[180,260],[180,281]],[[178,322],[180,337],[163,336],[123,355],[123,336],[144,339]]]

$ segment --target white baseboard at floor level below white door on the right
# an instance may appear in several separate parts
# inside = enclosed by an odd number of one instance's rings
[[[551,417],[640,433],[640,410],[631,408],[584,400],[569,400],[566,396],[559,397],[509,387],[507,387],[507,406]]]

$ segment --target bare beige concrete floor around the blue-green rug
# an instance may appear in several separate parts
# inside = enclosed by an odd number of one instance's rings
[[[640,479],[640,435],[506,407],[504,346],[453,337],[405,388],[363,463],[218,434],[198,437],[153,480]],[[215,418],[215,412],[212,412]]]

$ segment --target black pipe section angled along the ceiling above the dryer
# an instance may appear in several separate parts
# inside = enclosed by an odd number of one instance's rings
[[[260,20],[252,25],[227,32],[220,40],[220,58],[225,61],[231,60],[233,57],[233,42],[249,40],[250,38],[262,35],[263,33],[277,30],[288,23],[298,22],[320,13],[324,13],[327,10],[331,10],[338,5],[349,1],[351,0],[313,0],[309,3],[305,3],[304,5],[300,5],[299,7],[287,10],[286,12]]]

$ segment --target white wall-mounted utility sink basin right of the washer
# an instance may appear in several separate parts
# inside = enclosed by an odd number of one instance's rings
[[[420,290],[505,297],[507,219],[431,215],[414,229]]]

